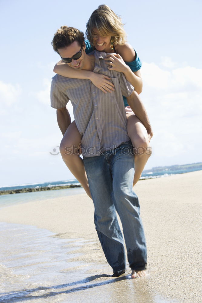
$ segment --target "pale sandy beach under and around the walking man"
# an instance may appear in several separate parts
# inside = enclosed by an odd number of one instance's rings
[[[129,279],[128,267],[125,275],[110,276],[112,269],[94,228],[93,202],[86,194],[4,207],[0,221],[45,228],[58,238],[74,239],[69,248],[76,255],[68,259],[74,266],[64,268],[67,281],[72,274],[79,284],[82,271],[88,277],[86,282],[80,281],[82,285],[91,282],[93,286],[79,289],[79,285],[68,285],[72,291],[64,291],[55,302],[199,303],[201,184],[202,171],[195,171],[139,181],[134,187],[141,206],[150,273],[141,279]],[[76,248],[81,240],[82,245]],[[41,297],[36,302],[49,301]]]

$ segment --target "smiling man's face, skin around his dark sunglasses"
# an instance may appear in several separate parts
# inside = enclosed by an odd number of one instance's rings
[[[74,69],[82,69],[84,66],[84,58],[85,58],[85,45],[81,48],[77,41],[73,42],[71,45],[66,46],[65,48],[59,48],[58,53],[60,54],[61,58],[71,58],[76,53],[81,50],[81,57],[77,60],[72,59],[70,63],[67,63]]]

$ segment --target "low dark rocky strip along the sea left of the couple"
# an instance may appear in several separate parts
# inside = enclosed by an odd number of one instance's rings
[[[70,185],[59,185],[59,186],[41,186],[37,188],[33,187],[33,188],[10,189],[10,190],[0,191],[0,195],[22,194],[25,192],[46,191],[46,190],[65,189],[65,188],[74,188],[74,187],[82,187],[82,186],[76,184],[70,184]]]

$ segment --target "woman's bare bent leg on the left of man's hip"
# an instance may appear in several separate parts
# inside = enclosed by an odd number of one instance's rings
[[[91,192],[88,185],[88,178],[84,168],[84,163],[77,153],[78,144],[81,142],[81,135],[73,121],[65,132],[60,144],[60,153],[63,161],[81,183],[87,195],[91,198]],[[91,198],[92,199],[92,198]]]

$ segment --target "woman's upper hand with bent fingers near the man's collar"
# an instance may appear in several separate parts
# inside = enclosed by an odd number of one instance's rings
[[[114,70],[125,73],[128,69],[128,66],[125,64],[123,58],[119,54],[106,55],[104,60],[105,63],[109,65],[108,69],[111,71]]]

